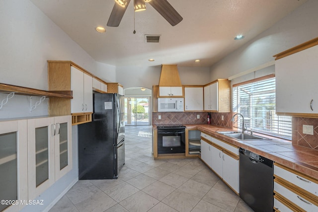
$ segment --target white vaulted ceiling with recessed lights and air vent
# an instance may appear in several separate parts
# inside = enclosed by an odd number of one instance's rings
[[[31,0],[95,61],[113,66],[210,67],[306,0],[168,0],[183,20],[171,26],[150,4],[133,0],[119,27],[107,27],[114,0]],[[105,33],[95,31],[104,26]],[[161,35],[146,43],[145,34]],[[243,40],[234,37],[243,34]],[[155,59],[149,62],[148,59]],[[200,59],[200,63],[194,60]]]

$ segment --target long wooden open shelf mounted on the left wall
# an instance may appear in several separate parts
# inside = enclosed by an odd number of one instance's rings
[[[19,94],[19,95],[61,97],[61,98],[73,99],[71,90],[70,91],[46,91],[46,90],[39,90],[35,88],[0,83],[0,91],[14,92],[15,94]]]

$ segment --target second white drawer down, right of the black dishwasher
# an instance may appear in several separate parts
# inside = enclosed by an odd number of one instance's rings
[[[318,207],[308,199],[295,194],[284,186],[274,182],[274,193],[278,193],[307,212],[318,212]]]

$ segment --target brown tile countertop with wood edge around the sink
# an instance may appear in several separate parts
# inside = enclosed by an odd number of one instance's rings
[[[188,129],[197,129],[215,138],[245,148],[256,154],[267,157],[277,163],[318,179],[318,150],[292,144],[291,141],[272,139],[266,141],[238,141],[217,133],[217,131],[233,131],[215,125],[184,125]],[[255,134],[257,135],[257,134]],[[264,135],[261,135],[265,137]]]

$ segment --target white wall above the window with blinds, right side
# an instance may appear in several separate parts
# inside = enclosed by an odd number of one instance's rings
[[[274,61],[273,55],[318,37],[317,8],[318,0],[308,0],[274,26],[222,59],[211,67],[211,81],[217,78],[228,78],[239,72]],[[275,66],[267,68],[265,72],[275,72]],[[256,73],[255,77],[259,75],[262,74]],[[251,78],[254,78],[253,73],[235,79],[233,82],[237,83]]]

